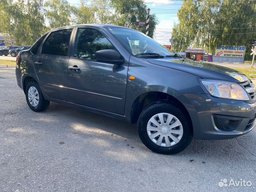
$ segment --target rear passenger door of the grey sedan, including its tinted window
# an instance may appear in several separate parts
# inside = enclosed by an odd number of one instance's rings
[[[60,100],[69,100],[67,68],[73,28],[48,34],[34,57],[34,69],[44,93]]]

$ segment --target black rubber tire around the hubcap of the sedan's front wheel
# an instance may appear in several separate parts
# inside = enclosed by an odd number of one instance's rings
[[[146,130],[149,119],[158,113],[170,113],[180,120],[183,127],[183,135],[182,138],[180,139],[180,142],[173,146],[165,147],[155,144],[149,138]],[[144,143],[144,145],[150,150],[161,154],[171,155],[180,153],[182,150],[187,148],[187,146],[191,143],[191,140],[193,138],[192,125],[188,120],[186,113],[180,110],[178,106],[175,106],[165,101],[157,101],[147,106],[139,116],[137,127],[139,137]]]

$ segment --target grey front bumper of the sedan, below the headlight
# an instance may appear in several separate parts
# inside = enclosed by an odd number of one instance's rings
[[[232,139],[256,126],[256,103],[209,94],[182,94],[176,98],[190,114],[195,139]]]

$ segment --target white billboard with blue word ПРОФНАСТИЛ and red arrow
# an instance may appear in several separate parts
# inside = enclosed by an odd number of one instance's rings
[[[216,57],[244,57],[245,46],[216,46]]]

